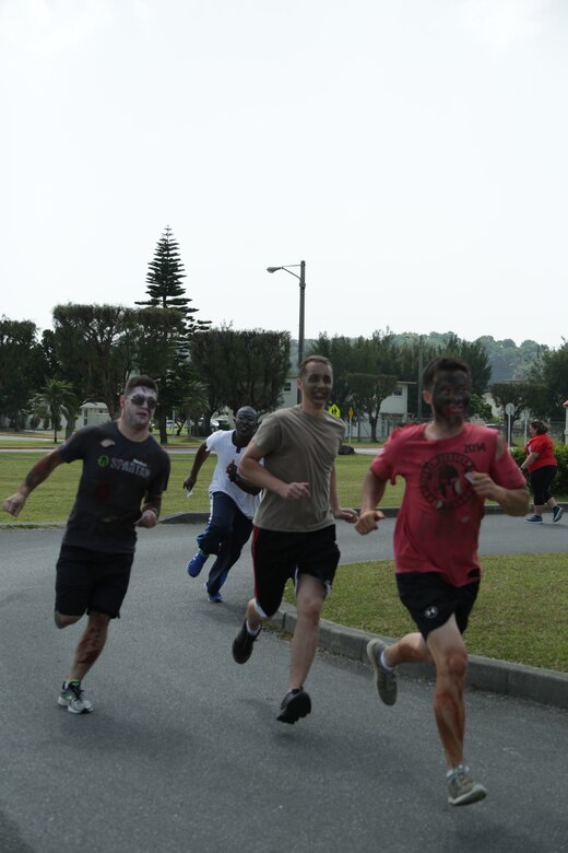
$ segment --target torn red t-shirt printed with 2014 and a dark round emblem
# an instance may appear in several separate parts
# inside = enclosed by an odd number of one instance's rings
[[[495,458],[496,430],[465,423],[459,435],[430,441],[425,429],[395,430],[371,465],[381,480],[406,480],[394,527],[397,572],[438,572],[453,586],[464,586],[481,576],[484,516],[484,501],[465,475],[488,474],[505,489],[521,489],[524,478],[507,448]]]

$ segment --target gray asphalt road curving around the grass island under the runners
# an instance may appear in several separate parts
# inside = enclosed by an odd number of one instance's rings
[[[392,519],[344,560],[388,557]],[[489,516],[482,550],[566,551],[568,525]],[[288,643],[264,632],[237,666],[248,553],[210,605],[185,563],[197,528],[142,531],[122,618],[85,680],[96,704],[56,700],[80,634],[52,623],[60,529],[0,530],[1,853],[553,853],[568,850],[566,712],[468,694],[481,804],[446,803],[430,687],[404,679],[393,709],[367,667],[318,654],[312,714],[277,723]]]

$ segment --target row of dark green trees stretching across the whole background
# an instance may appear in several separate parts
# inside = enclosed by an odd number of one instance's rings
[[[221,409],[236,412],[244,404],[261,413],[275,409],[286,378],[295,372],[289,334],[213,328],[190,306],[181,285],[185,276],[178,244],[167,227],[149,264],[147,299],[137,302],[138,307],[56,305],[54,328],[40,338],[33,323],[2,317],[0,424],[22,429],[32,416],[50,420],[58,430],[63,414],[73,422],[87,401],[104,402],[115,417],[120,390],[132,372],[147,373],[158,383],[156,421],[163,443],[171,412],[179,429],[187,420],[203,419],[206,433],[212,414]],[[399,382],[410,383],[410,414],[428,417],[421,401],[422,367],[441,353],[470,364],[472,414],[490,420],[483,400],[490,390],[499,405],[512,402],[517,417],[530,409],[534,416],[564,418],[568,343],[558,350],[539,348],[539,358],[523,371],[523,378],[492,383],[490,341],[487,337],[465,341],[452,332],[401,336],[387,329],[355,339],[321,334],[308,342],[307,352],[331,360],[333,401],[342,412],[353,408],[366,417],[374,440],[381,402]],[[533,343],[525,341],[521,348],[525,360]]]

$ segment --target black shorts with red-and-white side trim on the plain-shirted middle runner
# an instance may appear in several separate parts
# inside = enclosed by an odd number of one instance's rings
[[[286,581],[300,574],[318,577],[329,593],[340,561],[335,525],[322,530],[283,533],[255,527],[252,535],[255,598],[262,616],[280,607]]]

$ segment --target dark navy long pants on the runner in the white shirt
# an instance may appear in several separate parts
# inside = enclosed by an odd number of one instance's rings
[[[252,530],[252,519],[247,518],[224,492],[213,492],[211,500],[211,515],[208,526],[198,536],[198,545],[204,553],[217,554],[208,577],[208,593],[215,595],[240,557]]]

